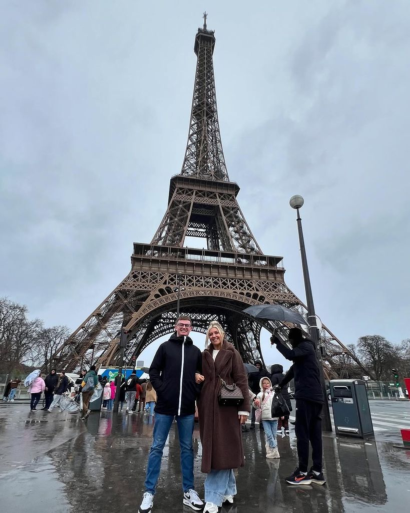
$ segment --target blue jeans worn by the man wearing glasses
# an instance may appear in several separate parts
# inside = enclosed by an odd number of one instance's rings
[[[175,419],[178,426],[179,446],[181,449],[182,489],[183,491],[188,491],[194,488],[194,449],[192,447],[194,416],[176,416]],[[145,491],[149,491],[151,494],[155,494],[155,486],[161,468],[162,451],[173,421],[173,415],[155,414],[154,441],[148,457],[147,478],[145,480]]]

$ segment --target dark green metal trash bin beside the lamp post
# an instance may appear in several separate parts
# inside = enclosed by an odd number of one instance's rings
[[[330,393],[337,435],[358,438],[374,436],[366,383],[363,380],[331,380]]]

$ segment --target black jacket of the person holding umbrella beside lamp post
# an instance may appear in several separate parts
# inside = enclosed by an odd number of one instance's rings
[[[279,386],[283,388],[294,378],[296,400],[323,403],[319,363],[313,342],[310,339],[302,339],[293,349],[284,344],[276,344],[276,348],[286,360],[293,361],[292,367],[286,372]]]

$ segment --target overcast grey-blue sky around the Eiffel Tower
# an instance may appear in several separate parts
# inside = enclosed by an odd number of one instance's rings
[[[206,9],[228,172],[262,250],[304,300],[302,194],[323,323],[345,344],[410,337],[410,4],[249,6],[0,4],[0,295],[75,329],[129,272],[181,169]]]

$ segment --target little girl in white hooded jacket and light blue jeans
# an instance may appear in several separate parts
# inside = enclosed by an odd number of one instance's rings
[[[276,432],[278,430],[278,419],[272,417],[272,400],[275,395],[272,383],[269,378],[260,380],[260,392],[254,400],[257,408],[260,408],[260,419],[267,438],[266,457],[280,458],[278,451],[278,442],[276,440]]]

